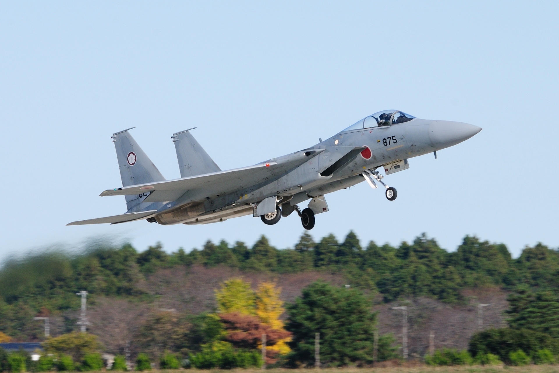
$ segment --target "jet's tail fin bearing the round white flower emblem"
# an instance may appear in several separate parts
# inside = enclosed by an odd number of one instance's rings
[[[117,132],[111,136],[112,142],[115,143],[116,158],[119,161],[122,186],[165,180],[157,167],[155,167],[155,164],[144,153],[144,150],[141,150],[140,145],[128,133],[128,130],[132,128]],[[149,193],[144,194],[141,196],[126,196],[126,207],[129,212],[140,211],[149,205],[146,203],[145,206],[142,206],[142,201]]]

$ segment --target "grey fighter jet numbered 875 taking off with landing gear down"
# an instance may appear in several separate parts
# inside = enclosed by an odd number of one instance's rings
[[[132,127],[134,128],[134,127]],[[385,175],[410,167],[409,159],[452,147],[481,128],[462,122],[419,119],[399,110],[369,115],[310,148],[268,159],[254,166],[221,171],[198,141],[194,128],[171,136],[181,178],[165,180],[128,132],[114,133],[122,187],[101,196],[126,196],[122,215],[74,221],[68,225],[118,224],[145,219],[150,223],[208,224],[244,215],[277,224],[296,211],[305,229],[315,215],[328,211],[324,196],[367,182],[385,188],[396,199]],[[299,204],[310,200],[303,210]]]

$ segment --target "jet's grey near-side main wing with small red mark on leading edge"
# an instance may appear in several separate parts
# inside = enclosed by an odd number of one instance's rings
[[[144,202],[160,202],[174,201],[188,190],[204,189],[207,190],[207,195],[231,193],[281,176],[281,174],[301,166],[301,164],[323,151],[324,149],[316,149],[306,153],[301,151],[297,152],[299,154],[290,154],[289,157],[277,159],[274,162],[260,163],[254,166],[183,177],[176,180],[108,189],[103,191],[101,196],[122,196],[151,192]]]

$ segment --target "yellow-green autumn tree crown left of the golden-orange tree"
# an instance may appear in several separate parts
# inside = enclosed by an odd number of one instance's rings
[[[217,309],[222,313],[239,312],[255,315],[256,295],[250,289],[250,284],[242,278],[231,278],[221,284],[221,289],[215,291]]]

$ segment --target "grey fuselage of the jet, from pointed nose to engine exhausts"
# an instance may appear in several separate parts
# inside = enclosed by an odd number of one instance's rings
[[[204,196],[203,192],[191,195],[187,192],[172,202],[172,206],[165,208],[167,212],[156,215],[155,220],[160,224],[200,224],[249,215],[253,214],[251,204],[272,195],[290,198],[292,204],[297,204],[363,182],[362,172],[365,169],[376,169],[389,162],[451,147],[479,130],[476,126],[461,122],[413,119],[401,124],[342,131],[311,148],[280,157],[289,158],[293,154],[324,149],[316,157],[275,180],[264,180],[219,196]],[[337,160],[337,150],[347,147],[367,147],[369,153],[367,150],[359,152],[348,164],[323,176],[321,171]],[[278,159],[272,158],[266,162]],[[201,197],[206,200],[200,202]]]

